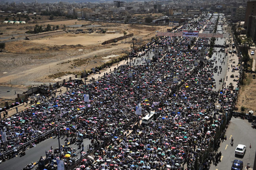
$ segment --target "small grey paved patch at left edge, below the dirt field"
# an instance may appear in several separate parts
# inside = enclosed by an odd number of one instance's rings
[[[0,98],[14,99],[15,97],[17,97],[17,95],[15,95],[15,91],[16,93],[23,93],[23,91],[26,91],[26,90],[27,90],[26,88],[11,88],[11,87],[0,86]]]

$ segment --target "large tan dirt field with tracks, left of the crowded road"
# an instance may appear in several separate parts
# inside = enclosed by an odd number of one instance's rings
[[[61,18],[63,19],[63,18]],[[105,62],[125,55],[122,49],[130,51],[132,48],[131,38],[114,44],[101,45],[105,40],[120,37],[124,31],[134,33],[137,39],[135,47],[148,42],[156,35],[160,26],[144,26],[136,24],[115,24],[102,22],[89,22],[78,20],[49,21],[38,23],[43,27],[47,24],[59,25],[60,29],[75,24],[93,24],[106,30],[105,34],[74,34],[56,35],[39,38],[37,40],[24,40],[26,31],[33,30],[35,24],[27,25],[3,25],[0,24],[1,40],[9,40],[15,37],[16,41],[6,42],[6,49],[0,53],[0,85],[10,86],[33,86],[48,84],[57,79],[53,77],[69,77],[69,73],[79,73],[87,64],[87,70],[99,66]],[[87,27],[74,29],[86,30]],[[69,28],[72,29],[72,28]],[[111,56],[111,57],[108,57]],[[95,63],[96,62],[96,63]],[[76,68],[74,68],[76,66]]]

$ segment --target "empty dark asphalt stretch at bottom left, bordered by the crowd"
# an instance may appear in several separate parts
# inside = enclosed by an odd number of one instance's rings
[[[70,138],[69,138],[70,139]],[[60,139],[60,144],[65,144],[65,138],[63,139],[63,137],[61,137]],[[83,144],[84,144],[84,151],[87,151],[87,145],[89,145],[91,143],[91,140],[89,139],[83,139]],[[78,156],[76,157],[79,158],[80,154],[79,154],[79,150],[77,150],[78,146],[75,144],[70,145],[71,148],[76,148],[76,154],[78,154]],[[45,141],[37,144],[35,147],[33,148],[29,148],[28,150],[26,150],[26,155],[20,157],[17,156],[13,159],[9,159],[6,162],[2,162],[0,164],[0,170],[20,170],[23,169],[27,164],[30,164],[32,161],[33,162],[37,162],[41,156],[45,157],[45,151],[50,150],[50,147],[53,148],[58,148],[59,144],[58,144],[58,137],[52,137],[49,139],[46,139]]]

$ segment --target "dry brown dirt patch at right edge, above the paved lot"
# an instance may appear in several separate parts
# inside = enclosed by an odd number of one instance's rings
[[[256,79],[252,79],[252,74],[245,73],[246,79],[238,96],[236,107],[238,112],[241,112],[241,106],[247,108],[247,112],[252,110],[254,115],[256,115],[256,104],[255,104],[255,94],[256,94]]]

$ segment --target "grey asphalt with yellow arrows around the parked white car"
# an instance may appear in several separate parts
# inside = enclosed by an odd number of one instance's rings
[[[221,143],[218,152],[221,151],[221,162],[214,166],[211,164],[210,170],[229,170],[231,169],[234,159],[243,161],[243,170],[246,170],[247,163],[250,163],[249,170],[253,169],[254,157],[256,152],[256,129],[253,129],[251,123],[248,120],[232,117],[231,123],[226,131],[227,140]],[[234,139],[234,145],[231,146],[231,137]],[[246,146],[246,152],[244,156],[235,155],[237,144],[243,144]],[[252,148],[250,149],[250,144]]]

